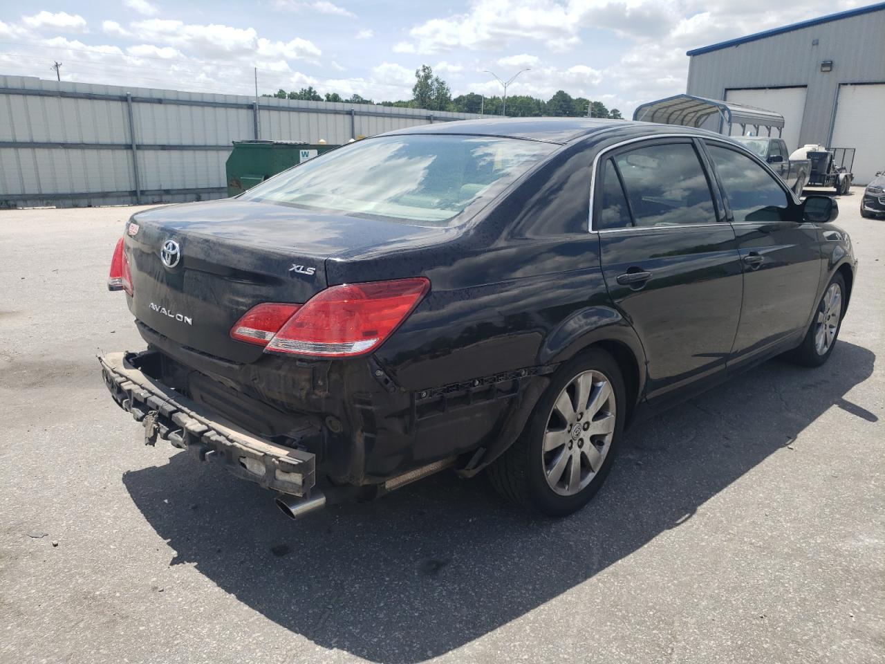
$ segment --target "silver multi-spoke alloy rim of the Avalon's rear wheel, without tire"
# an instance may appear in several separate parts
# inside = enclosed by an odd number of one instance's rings
[[[612,446],[615,409],[612,382],[599,371],[576,375],[559,393],[542,452],[544,477],[558,495],[573,496],[599,472]]]

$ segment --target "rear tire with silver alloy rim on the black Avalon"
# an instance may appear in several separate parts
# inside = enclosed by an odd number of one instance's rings
[[[529,511],[566,516],[602,486],[624,429],[618,363],[591,349],[560,367],[510,449],[489,466],[492,486]]]

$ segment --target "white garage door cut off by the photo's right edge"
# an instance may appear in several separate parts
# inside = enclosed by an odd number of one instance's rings
[[[854,181],[868,184],[885,170],[885,83],[839,86],[831,148],[855,148]]]

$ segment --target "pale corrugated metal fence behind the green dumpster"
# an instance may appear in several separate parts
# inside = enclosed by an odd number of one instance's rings
[[[479,117],[0,76],[0,207],[219,198],[235,140],[338,144]]]

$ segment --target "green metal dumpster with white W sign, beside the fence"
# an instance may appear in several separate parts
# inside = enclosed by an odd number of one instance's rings
[[[234,151],[225,164],[227,196],[242,194],[271,175],[337,147],[298,141],[234,141]]]

